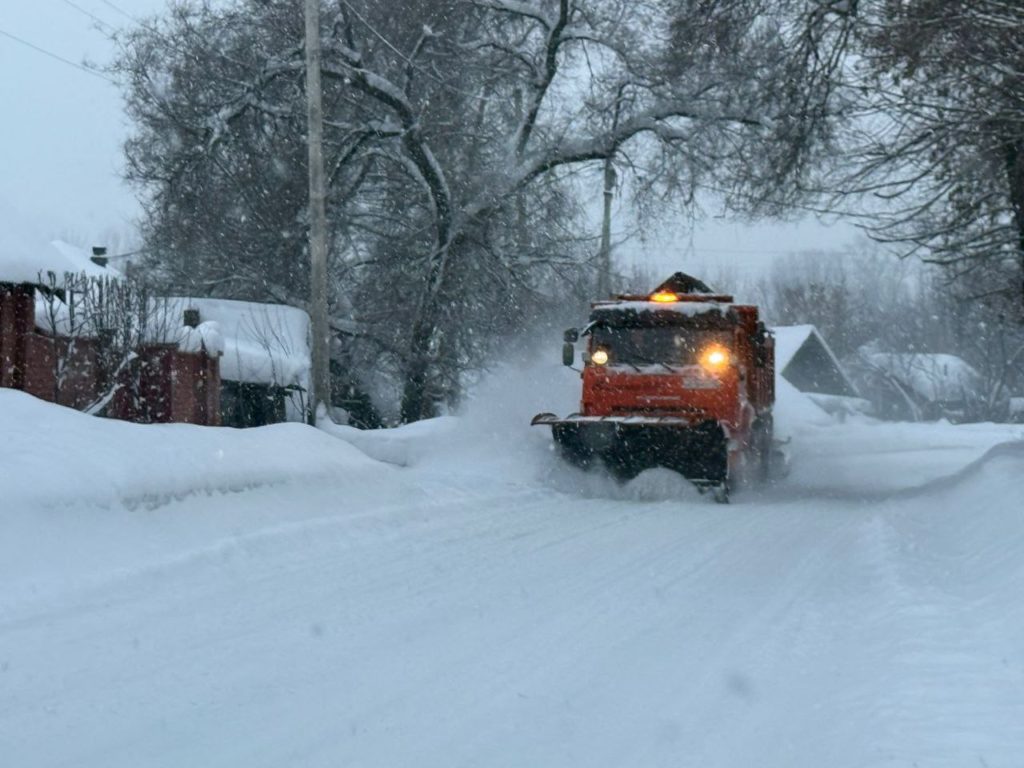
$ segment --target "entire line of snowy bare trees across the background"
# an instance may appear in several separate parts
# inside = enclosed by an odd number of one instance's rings
[[[805,205],[857,216],[890,250],[937,264],[935,286],[880,284],[868,311],[844,281],[897,267],[866,261],[775,286],[765,301],[780,322],[815,322],[840,346],[976,344],[964,356],[977,366],[1002,355],[1016,370],[1024,6],[322,8],[332,371],[349,398],[370,393],[404,422],[431,416],[509,339],[582,310],[599,282],[586,209],[600,189],[581,172],[606,162],[648,221],[691,209],[708,187],[745,215]],[[119,43],[148,278],[305,306],[301,0],[175,2]],[[816,321],[822,311],[833,316]],[[1004,388],[1018,386],[1007,376]]]

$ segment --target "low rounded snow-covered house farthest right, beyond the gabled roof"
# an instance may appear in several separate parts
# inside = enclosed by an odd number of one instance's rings
[[[952,354],[862,350],[851,371],[884,419],[970,421],[983,399],[981,376]]]

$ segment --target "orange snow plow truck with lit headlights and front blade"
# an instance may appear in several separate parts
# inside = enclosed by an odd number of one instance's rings
[[[594,302],[587,326],[565,332],[566,366],[581,339],[580,412],[531,422],[567,461],[623,480],[667,467],[719,502],[737,480],[769,479],[775,344],[756,306],[676,272],[648,295]]]

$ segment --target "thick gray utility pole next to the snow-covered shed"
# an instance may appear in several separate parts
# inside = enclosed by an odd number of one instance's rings
[[[319,2],[306,0],[306,140],[309,145],[309,315],[312,392],[309,422],[331,407],[331,332],[327,317],[327,193],[324,184],[324,108],[321,90]]]

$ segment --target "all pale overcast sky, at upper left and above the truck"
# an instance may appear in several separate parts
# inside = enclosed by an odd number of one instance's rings
[[[138,205],[121,181],[128,125],[120,91],[74,65],[105,65],[113,57],[114,46],[99,24],[110,31],[165,5],[166,0],[0,3],[0,103],[6,108],[0,127],[0,218],[8,220],[5,226],[16,217],[16,226],[33,236],[81,245],[131,229]],[[599,205],[599,193],[596,197]],[[849,248],[856,239],[856,230],[846,224],[828,227],[806,218],[752,226],[721,217],[714,203],[706,209],[703,219],[674,223],[651,232],[646,244],[624,246],[620,258],[655,269],[705,264],[750,269],[785,252]]]

